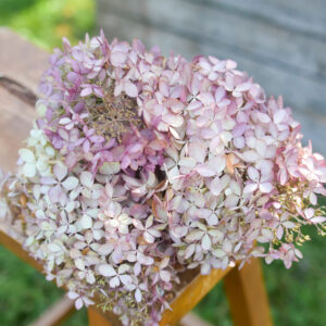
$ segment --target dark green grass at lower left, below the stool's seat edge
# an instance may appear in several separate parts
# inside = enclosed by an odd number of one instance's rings
[[[53,283],[0,247],[0,325],[29,325],[64,294]],[[75,313],[66,326],[87,325],[86,311]]]

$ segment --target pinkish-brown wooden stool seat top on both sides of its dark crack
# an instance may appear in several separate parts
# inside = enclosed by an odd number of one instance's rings
[[[0,28],[0,77],[16,80],[37,92],[41,73],[48,66],[49,53],[24,40],[8,28]],[[15,172],[17,151],[24,146],[36,112],[24,99],[0,87],[0,166]]]

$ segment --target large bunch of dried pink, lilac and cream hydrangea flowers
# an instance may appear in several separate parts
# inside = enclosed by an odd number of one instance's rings
[[[1,208],[77,308],[96,294],[124,324],[154,325],[180,272],[290,267],[301,226],[325,234],[326,162],[234,61],[101,34],[64,40],[50,63]]]

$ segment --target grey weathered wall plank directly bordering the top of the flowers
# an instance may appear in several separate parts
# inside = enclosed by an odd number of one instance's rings
[[[226,49],[223,46],[215,48],[210,45],[200,45],[156,27],[148,28],[141,22],[126,21],[112,13],[99,13],[99,17],[110,39],[114,37],[125,40],[140,38],[149,47],[162,46],[165,54],[174,49],[176,53],[188,53],[188,57],[203,53],[225,58]],[[266,89],[267,95],[284,95],[285,103],[293,108],[294,117],[303,124],[304,142],[312,139],[314,149],[326,154],[324,141],[326,87],[302,76],[294,76],[286,71],[276,71],[269,65],[243,59],[237,53],[230,53],[229,57],[238,61],[239,68],[248,71],[250,75],[253,74],[254,80]]]

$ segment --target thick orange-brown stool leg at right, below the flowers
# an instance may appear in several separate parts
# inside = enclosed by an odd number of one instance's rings
[[[226,296],[235,326],[272,326],[268,299],[261,262],[252,259],[224,278]]]

